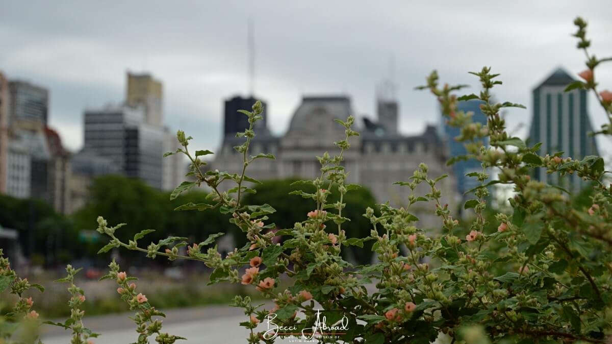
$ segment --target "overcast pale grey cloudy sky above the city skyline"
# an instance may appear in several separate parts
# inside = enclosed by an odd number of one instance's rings
[[[392,59],[402,132],[438,121],[435,99],[413,90],[430,70],[477,92],[466,72],[483,65],[502,74],[498,99],[528,106],[507,112],[509,126],[528,127],[531,89],[556,67],[584,69],[573,18],[589,21],[603,57],[612,55],[610,13],[610,1],[7,1],[0,70],[50,89],[51,125],[72,150],[83,144],[84,108],[124,99],[127,70],[151,72],[163,81],[166,124],[214,150],[223,99],[248,92],[253,18],[255,94],[267,101],[275,133],[304,94],[347,94],[356,114],[372,116]],[[611,67],[599,74],[603,88],[612,89]],[[589,100],[599,127],[605,115]]]

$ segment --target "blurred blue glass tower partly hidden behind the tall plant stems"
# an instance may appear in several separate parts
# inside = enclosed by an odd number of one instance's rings
[[[487,116],[480,111],[480,104],[482,103],[481,100],[477,99],[459,102],[457,111],[472,113],[472,121],[481,123],[483,127],[485,127],[487,125]],[[468,154],[468,151],[465,149],[465,143],[455,141],[455,137],[460,135],[461,130],[458,127],[451,127],[447,124],[447,120],[444,116],[441,116],[440,129],[450,157],[459,157]],[[488,146],[488,138],[485,138],[483,143],[485,146]],[[455,174],[455,179],[457,180],[457,190],[461,195],[478,186],[479,182],[476,178],[466,176],[466,174],[470,172],[482,172],[482,166],[478,160],[458,160],[452,165],[452,169],[453,174]],[[465,196],[463,197],[465,198]]]

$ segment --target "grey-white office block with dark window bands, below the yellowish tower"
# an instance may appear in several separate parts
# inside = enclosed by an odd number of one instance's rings
[[[145,121],[143,107],[109,105],[84,113],[84,150],[110,159],[125,176],[162,188],[166,132]]]

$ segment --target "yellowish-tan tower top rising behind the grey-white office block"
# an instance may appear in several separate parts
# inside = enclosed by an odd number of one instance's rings
[[[162,83],[151,74],[127,72],[125,102],[130,107],[144,107],[145,121],[151,125],[163,125]]]

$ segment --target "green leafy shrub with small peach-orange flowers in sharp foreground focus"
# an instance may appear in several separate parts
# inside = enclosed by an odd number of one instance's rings
[[[577,18],[575,24],[578,47],[586,52],[588,70],[580,73],[584,81],[570,84],[567,91],[583,88],[597,94],[610,119],[599,133],[610,135],[612,96],[609,91],[596,91],[594,76],[595,67],[611,59],[596,59],[589,54],[586,23]],[[327,334],[333,335],[318,338],[319,342],[430,343],[444,336],[452,342],[468,343],[609,342],[612,184],[606,186],[603,181],[607,173],[603,159],[573,159],[563,152],[539,155],[540,144],[529,146],[506,131],[499,112],[506,107],[524,107],[493,102],[491,89],[502,84],[499,75],[488,67],[472,74],[482,84],[479,94],[456,95],[464,86],[440,86],[436,72],[429,75],[425,86],[419,87],[435,95],[449,124],[460,127],[457,140],[465,142],[468,157],[482,164],[482,171],[468,174],[480,185],[469,192],[474,198],[463,205],[474,212],[467,221],[454,219],[448,204],[441,202],[436,184],[446,176],[429,176],[427,165],[420,164],[408,181],[395,183],[408,188],[408,203],[401,208],[379,204],[379,212],[368,208],[364,216],[371,223],[370,235],[349,237],[351,226],[343,216],[343,198],[359,188],[346,183],[348,171],[342,164],[344,153],[351,148],[351,137],[359,135],[353,130],[354,118],[349,116],[345,121],[336,120],[345,129],[345,138],[334,143],[337,152],[317,157],[321,163],[319,176],[296,182],[315,191],[292,192],[312,200],[312,211],[296,219],[293,228],[272,231],[275,225],[267,217],[275,211],[272,206],[244,204],[245,193],[256,192],[251,185],[260,183],[246,174],[248,165],[256,159],[274,159],[271,154],[250,155],[250,142],[255,137],[253,124],[261,119],[263,110],[256,102],[252,111],[241,110],[249,123],[248,129],[237,134],[245,138],[244,143],[234,148],[242,156],[241,173],[203,171],[206,163],[201,157],[212,152],[191,152],[192,138],[182,131],[177,133],[182,148],[168,153],[185,154],[191,162],[187,173],[190,180],[179,185],[171,198],[204,185],[211,190],[209,199],[213,201],[188,203],[176,210],[212,208],[231,214],[230,222],[248,239],[244,247],[226,256],[216,247],[203,252],[223,233],[199,243],[168,237],[141,247],[138,241],[151,230],[122,242],[115,236],[122,225],[109,226],[99,217],[97,230],[110,237],[100,252],[123,247],[150,258],[201,261],[214,269],[210,283],[252,286],[272,299],[274,307],[253,305],[250,297],[236,296],[233,305],[244,308],[241,326],[250,331],[248,343],[274,342],[279,332],[259,329],[260,323],[270,323],[271,315],[276,329],[311,329],[307,334],[313,335],[319,310],[324,310],[330,325]],[[470,99],[482,102],[486,125],[472,122],[471,113],[457,110],[458,102]],[[485,138],[489,147],[483,144]],[[532,179],[532,173],[540,168],[559,177],[577,174],[591,181],[591,206],[575,209],[567,190]],[[495,178],[491,178],[493,172]],[[222,184],[232,185],[222,191]],[[513,196],[508,200],[512,210],[496,214],[497,230],[487,231],[484,211],[488,187],[493,184],[512,185]],[[427,186],[428,192],[417,194],[419,185]],[[330,190],[337,190],[339,201],[327,202]],[[419,228],[419,219],[411,213],[416,203],[430,204],[439,217],[440,233]],[[282,243],[274,240],[278,236],[283,237]],[[377,263],[354,266],[342,258],[343,249],[350,245],[362,247],[367,241],[374,242]],[[182,253],[181,247],[187,247],[186,252]],[[129,283],[131,277],[120,272],[116,263],[111,263],[110,268],[105,278],[116,279],[122,299],[141,312],[135,318],[138,343],[146,343],[152,334],[157,334],[157,341],[163,343],[179,339],[160,334],[157,321],[151,319],[159,313],[148,305],[146,296],[136,294],[135,285]],[[291,281],[288,288],[278,286],[283,276]]]

